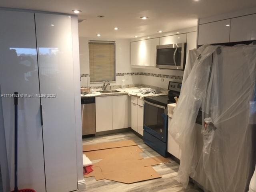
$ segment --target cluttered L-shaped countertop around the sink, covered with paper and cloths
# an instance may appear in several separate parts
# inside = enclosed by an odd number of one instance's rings
[[[100,96],[116,96],[116,95],[132,95],[132,96],[136,96],[139,98],[143,98],[143,97],[151,97],[151,96],[160,96],[160,95],[168,95],[167,91],[161,91],[159,94],[142,94],[139,92],[139,90],[141,88],[145,88],[145,87],[131,87],[131,88],[125,88],[125,89],[121,89],[118,88],[116,90],[118,90],[119,92],[114,92],[114,93],[100,93],[100,92],[95,92],[95,94],[87,94],[87,95],[83,95],[81,94],[81,97],[100,97]]]

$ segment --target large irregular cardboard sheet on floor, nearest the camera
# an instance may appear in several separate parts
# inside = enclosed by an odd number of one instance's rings
[[[84,152],[90,160],[102,159],[94,164],[93,169],[96,171],[85,177],[94,176],[96,180],[105,178],[130,184],[160,178],[161,176],[151,166],[170,162],[162,156],[143,159],[139,154],[143,151],[137,145],[124,146],[125,143],[122,142],[119,144],[123,147]],[[102,148],[102,145],[100,147],[95,145],[94,148]]]

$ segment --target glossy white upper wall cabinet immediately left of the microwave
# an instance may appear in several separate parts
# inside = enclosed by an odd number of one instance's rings
[[[141,40],[131,43],[132,66],[156,66],[156,46],[159,38]]]

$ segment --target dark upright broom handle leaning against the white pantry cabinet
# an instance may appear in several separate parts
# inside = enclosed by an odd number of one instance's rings
[[[14,92],[14,192],[18,192],[18,92]]]

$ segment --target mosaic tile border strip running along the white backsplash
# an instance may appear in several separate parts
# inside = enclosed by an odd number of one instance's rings
[[[143,75],[143,76],[151,76],[151,77],[159,77],[159,78],[167,78],[167,79],[177,79],[177,80],[182,80],[182,78],[183,78],[183,76],[178,76],[178,75],[165,75],[165,74],[144,73],[144,72],[116,73],[116,76],[124,76],[124,75],[130,75],[130,76]],[[80,76],[81,77],[89,77],[90,74],[81,74]]]

